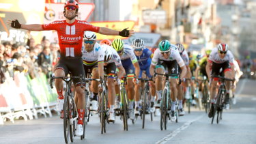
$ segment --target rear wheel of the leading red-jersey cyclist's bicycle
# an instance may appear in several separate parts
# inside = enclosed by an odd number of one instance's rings
[[[76,113],[76,106],[74,106],[74,99],[71,96],[70,99],[70,118],[76,117],[77,113]],[[71,121],[70,119],[70,141],[73,142],[74,141],[74,134],[76,131],[76,121],[73,120]]]

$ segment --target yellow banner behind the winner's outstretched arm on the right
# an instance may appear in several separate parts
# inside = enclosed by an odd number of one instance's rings
[[[92,22],[91,25],[95,25],[97,27],[107,27],[109,29],[113,29],[116,31],[122,31],[123,29],[133,29],[135,22],[134,21],[110,21],[110,22]],[[115,38],[127,39],[126,37],[118,36],[118,35],[101,35],[100,33],[96,33],[97,40],[109,39],[113,40]]]

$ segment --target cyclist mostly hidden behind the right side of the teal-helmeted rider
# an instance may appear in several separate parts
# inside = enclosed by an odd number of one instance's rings
[[[180,56],[182,57],[182,59],[185,63],[186,69],[187,69],[186,78],[191,78],[192,74],[191,74],[191,71],[189,68],[188,53],[186,52],[186,50],[182,44],[178,43],[178,44],[176,44],[176,46],[177,46],[177,50],[180,53]],[[179,72],[181,72],[181,70],[179,70]],[[189,81],[185,81],[184,87],[188,87],[188,82]],[[180,116],[185,114],[185,111],[183,110],[183,106],[182,106],[183,96],[184,96],[184,93],[183,93],[182,85],[177,85],[177,100],[179,101],[178,108],[180,109]]]

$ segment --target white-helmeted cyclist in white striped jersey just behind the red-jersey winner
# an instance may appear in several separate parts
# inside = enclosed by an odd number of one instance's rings
[[[96,42],[96,34],[91,31],[85,31],[82,47],[83,68],[85,76],[92,74],[92,78],[103,78],[104,76],[104,48]],[[91,81],[91,91],[94,96],[91,99],[91,111],[98,110],[98,81]]]

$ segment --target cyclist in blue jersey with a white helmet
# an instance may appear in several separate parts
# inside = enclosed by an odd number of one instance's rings
[[[139,73],[139,78],[141,78],[143,71],[145,71],[145,74],[147,78],[151,78],[152,76],[150,75],[150,64],[152,60],[152,51],[150,51],[148,48],[144,47],[144,41],[141,39],[135,39],[132,42],[132,47],[134,48],[134,54],[137,57],[138,63],[139,63],[139,68],[140,68],[140,73]],[[139,85],[141,83],[139,82]],[[153,81],[150,81],[150,87],[151,87],[151,93],[152,93],[152,98],[151,98],[151,111],[154,112],[154,100],[155,100],[155,95],[156,95],[156,88],[154,87]],[[139,100],[140,100],[140,93],[139,93],[139,88],[140,87],[135,87],[135,115],[139,115]]]

